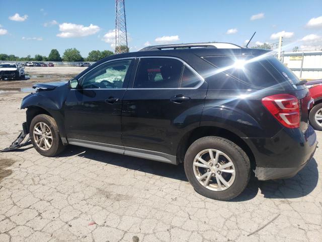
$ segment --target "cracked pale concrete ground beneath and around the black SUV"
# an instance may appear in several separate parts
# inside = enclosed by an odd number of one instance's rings
[[[21,130],[25,95],[0,95],[0,149]],[[76,146],[48,158],[28,145],[0,153],[0,241],[322,241],[321,157],[220,202],[197,194],[182,165]]]

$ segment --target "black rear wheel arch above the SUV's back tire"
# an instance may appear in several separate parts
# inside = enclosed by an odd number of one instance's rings
[[[201,126],[191,130],[190,132],[186,133],[180,140],[178,148],[177,148],[177,162],[183,163],[185,153],[188,150],[189,146],[202,137],[206,136],[218,136],[230,140],[237,144],[241,149],[245,151],[251,161],[252,169],[256,168],[256,160],[255,156],[250,148],[250,146],[240,138],[234,132],[221,127],[213,127],[213,126]]]

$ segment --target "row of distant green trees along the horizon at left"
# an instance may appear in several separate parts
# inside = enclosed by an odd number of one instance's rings
[[[121,48],[123,46],[120,46]],[[123,48],[124,52],[128,52],[128,49],[126,49],[126,46],[124,46],[125,48]],[[60,54],[58,52],[57,49],[52,49],[49,53],[48,56],[45,55],[40,55],[40,54],[36,54],[34,57],[32,57],[31,55],[27,55],[27,57],[18,57],[14,54],[1,54],[0,53],[0,61],[25,61],[25,62],[31,62],[31,61],[35,61],[35,62],[97,62],[100,59],[110,56],[114,54],[113,51],[111,50],[92,50],[91,52],[89,52],[89,55],[87,57],[83,57],[81,55],[81,52],[76,49],[76,48],[69,48],[66,49],[62,55],[62,57],[60,57]]]

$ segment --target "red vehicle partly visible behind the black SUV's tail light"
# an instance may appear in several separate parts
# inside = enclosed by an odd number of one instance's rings
[[[322,79],[309,81],[306,86],[314,99],[314,106],[309,113],[309,121],[315,130],[322,131]]]

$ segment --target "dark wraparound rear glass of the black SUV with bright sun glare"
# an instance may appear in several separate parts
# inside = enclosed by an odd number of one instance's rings
[[[204,59],[234,79],[255,87],[271,87],[283,82],[295,87],[299,82],[292,71],[272,55],[208,56]]]

